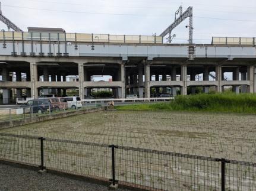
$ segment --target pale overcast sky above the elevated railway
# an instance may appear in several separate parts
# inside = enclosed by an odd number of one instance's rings
[[[2,14],[24,31],[59,27],[67,33],[152,35],[174,20],[178,0],[0,0]],[[194,9],[194,42],[211,37],[256,37],[255,0],[185,0]],[[174,43],[187,43],[188,19],[179,25]],[[7,27],[0,23],[1,29]]]

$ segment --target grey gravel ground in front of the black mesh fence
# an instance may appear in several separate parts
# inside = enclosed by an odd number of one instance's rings
[[[30,191],[30,190],[109,190],[107,186],[93,184],[82,180],[69,179],[37,171],[21,169],[0,164],[0,190],[1,191]],[[127,189],[118,189],[127,190]]]

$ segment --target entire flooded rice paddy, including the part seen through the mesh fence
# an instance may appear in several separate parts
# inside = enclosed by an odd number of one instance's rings
[[[220,190],[219,161],[126,147],[255,163],[255,127],[255,115],[110,111],[0,132],[46,137],[44,155],[48,169],[109,179],[112,159],[108,145],[115,144],[119,145],[115,149],[115,166],[116,179],[120,181],[163,190]],[[39,165],[40,141],[0,135],[0,158]],[[256,167],[227,163],[226,189],[255,190]]]

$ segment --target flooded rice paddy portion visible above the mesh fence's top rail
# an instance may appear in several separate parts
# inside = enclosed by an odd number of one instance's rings
[[[255,115],[97,112],[1,132],[256,162]]]

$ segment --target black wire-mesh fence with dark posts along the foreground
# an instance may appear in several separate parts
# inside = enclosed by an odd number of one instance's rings
[[[0,160],[148,190],[256,190],[256,163],[0,134]]]

